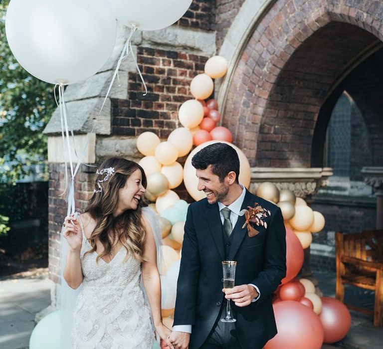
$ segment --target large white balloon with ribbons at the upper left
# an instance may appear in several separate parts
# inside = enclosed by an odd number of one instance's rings
[[[95,74],[116,41],[116,19],[103,0],[11,0],[9,47],[20,65],[51,84]]]

